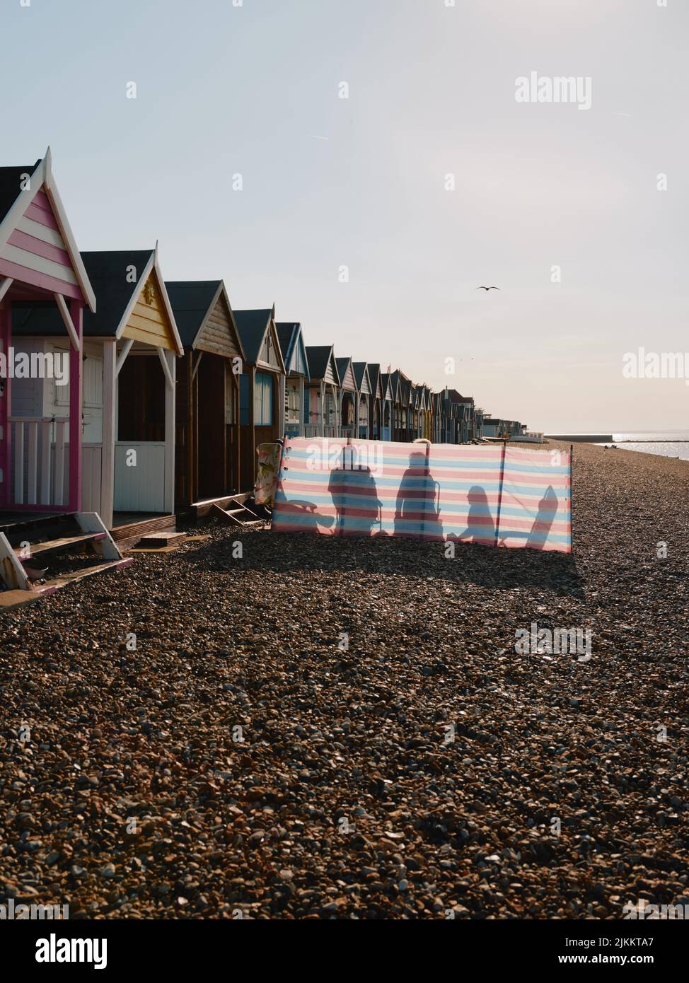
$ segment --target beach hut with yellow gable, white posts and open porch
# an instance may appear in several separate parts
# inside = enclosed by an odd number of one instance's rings
[[[113,539],[131,545],[144,533],[175,528],[175,387],[182,342],[152,250],[82,253],[97,297],[84,318],[82,507],[97,512]],[[33,305],[14,315],[27,339],[64,346],[53,310]],[[69,392],[31,380],[56,420]],[[27,386],[25,386],[25,390]],[[25,398],[28,393],[25,391]]]

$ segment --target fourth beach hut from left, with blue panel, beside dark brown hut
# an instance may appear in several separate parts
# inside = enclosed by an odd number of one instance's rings
[[[285,434],[285,364],[275,328],[275,307],[235,311],[245,354],[240,380],[240,445],[242,492],[254,488],[257,448]]]

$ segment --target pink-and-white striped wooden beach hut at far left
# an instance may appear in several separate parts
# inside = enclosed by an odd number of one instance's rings
[[[52,340],[46,340],[39,328],[30,342],[15,336],[17,318],[33,305],[55,315],[58,360]],[[3,513],[82,509],[84,311],[93,312],[95,307],[95,294],[52,174],[50,148],[35,164],[0,168]],[[54,372],[58,365],[60,379]],[[45,378],[48,369],[52,377]],[[50,412],[50,402],[44,398],[47,390],[60,398],[59,417]]]

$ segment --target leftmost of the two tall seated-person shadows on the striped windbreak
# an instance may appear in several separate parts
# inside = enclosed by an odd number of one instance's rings
[[[382,502],[370,467],[356,463],[352,448],[343,447],[338,467],[330,472],[328,492],[337,513],[335,536],[345,532],[359,536],[384,536]],[[373,527],[378,531],[373,533]]]

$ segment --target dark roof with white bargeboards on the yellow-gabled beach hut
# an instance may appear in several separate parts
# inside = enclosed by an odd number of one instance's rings
[[[88,280],[98,298],[97,311],[84,313],[85,338],[121,338],[144,285],[152,276],[157,281],[161,303],[172,332],[173,346],[179,355],[184,355],[175,315],[158,265],[157,248],[82,253],[82,260]],[[54,304],[19,303],[14,308],[14,334],[50,337],[64,333],[64,322]]]

